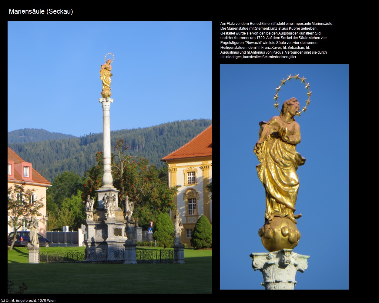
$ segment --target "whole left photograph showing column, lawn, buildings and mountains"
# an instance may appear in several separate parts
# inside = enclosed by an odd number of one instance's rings
[[[8,22],[8,293],[211,293],[212,22],[104,24]]]

